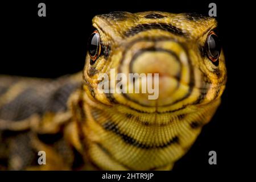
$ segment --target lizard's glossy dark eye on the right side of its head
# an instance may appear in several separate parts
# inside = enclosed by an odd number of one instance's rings
[[[221,53],[221,44],[218,36],[212,31],[207,37],[206,51],[208,58],[212,61],[214,65],[218,65],[218,57]]]

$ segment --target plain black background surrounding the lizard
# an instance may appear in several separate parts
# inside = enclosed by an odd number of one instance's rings
[[[40,2],[46,3],[46,17],[38,16]],[[245,3],[237,2],[236,7],[233,2],[219,1],[42,0],[1,3],[0,74],[55,78],[81,71],[86,55],[86,42],[91,33],[91,19],[96,14],[160,10],[208,15],[210,2],[217,4],[219,36],[226,57],[228,83],[222,96],[222,104],[212,121],[203,128],[196,143],[175,164],[174,169],[201,170],[225,168],[225,164],[231,166],[231,155],[242,143],[241,134],[234,131],[233,126],[244,120],[236,113],[241,112],[241,108],[237,106],[241,100],[238,93],[242,85],[246,84],[241,81],[241,75],[247,74],[244,69],[247,67],[245,56],[239,54],[246,46],[245,36],[250,34],[250,29],[242,33],[242,30],[248,28],[247,18],[242,12],[247,11],[245,8],[250,5]],[[247,13],[246,16],[249,16]],[[208,152],[211,150],[217,152],[216,166],[208,164]]]

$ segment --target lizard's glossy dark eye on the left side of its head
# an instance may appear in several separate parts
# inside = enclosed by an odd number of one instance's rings
[[[92,35],[90,35],[88,41],[88,52],[90,55],[90,64],[94,64],[100,55],[101,45],[100,45],[100,34],[95,30]]]

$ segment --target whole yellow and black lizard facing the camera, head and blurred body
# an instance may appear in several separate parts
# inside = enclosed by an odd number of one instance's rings
[[[214,18],[114,12],[93,27],[82,72],[0,76],[0,169],[168,170],[212,118],[226,82]],[[158,99],[100,93],[110,69],[159,73]]]

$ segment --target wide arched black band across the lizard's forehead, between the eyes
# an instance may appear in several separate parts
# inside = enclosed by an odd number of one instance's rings
[[[152,30],[152,29],[160,29],[164,31],[171,32],[175,35],[185,36],[180,28],[172,26],[171,24],[166,23],[150,23],[150,24],[139,24],[136,27],[131,28],[129,31],[125,32],[125,36],[133,36],[142,31]]]

